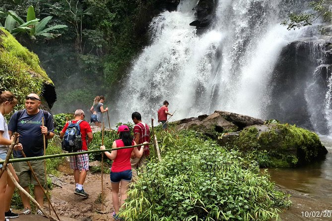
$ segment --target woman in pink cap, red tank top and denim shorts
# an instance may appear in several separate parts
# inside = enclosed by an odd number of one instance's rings
[[[120,134],[119,134],[120,133]],[[129,127],[127,125],[121,125],[118,129],[118,134],[120,139],[113,142],[112,148],[118,147],[128,147],[136,145],[133,141],[133,136],[130,134]],[[146,142],[147,143],[147,142]],[[110,160],[113,161],[111,167],[111,186],[112,186],[112,200],[114,206],[113,217],[115,220],[120,220],[120,217],[117,215],[121,206],[124,204],[127,199],[127,191],[129,184],[132,180],[132,166],[130,163],[130,158],[132,152],[134,151],[135,157],[140,158],[144,152],[144,147],[141,146],[140,150],[137,147],[126,148],[120,150],[113,150],[111,153],[106,151],[105,155]],[[105,146],[100,147],[101,150],[105,150]],[[121,183],[121,201],[119,207],[119,185]]]

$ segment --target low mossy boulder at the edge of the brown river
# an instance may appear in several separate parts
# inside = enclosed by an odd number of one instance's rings
[[[289,124],[271,124],[269,127],[269,131],[261,133],[256,127],[248,127],[240,132],[233,144],[262,167],[307,164],[317,160],[323,151],[319,137],[309,130]]]

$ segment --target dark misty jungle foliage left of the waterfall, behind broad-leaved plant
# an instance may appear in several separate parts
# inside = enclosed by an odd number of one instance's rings
[[[133,56],[147,41],[146,26],[155,13],[156,1],[4,0],[0,23],[4,24],[3,14],[9,11],[26,20],[32,5],[41,21],[52,16],[46,29],[67,26],[52,30],[52,34],[61,35],[52,41],[37,38],[32,44],[29,35],[17,39],[40,56],[54,80],[58,94],[54,110],[74,111],[75,105],[89,108],[93,98],[105,95],[106,89],[114,92],[113,86],[125,76]],[[77,97],[83,102],[73,104]]]

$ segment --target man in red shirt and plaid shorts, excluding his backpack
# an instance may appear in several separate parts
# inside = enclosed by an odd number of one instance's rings
[[[88,143],[92,141],[92,130],[90,124],[84,120],[84,111],[77,109],[74,113],[74,119],[72,120],[73,123],[79,122],[79,128],[81,132],[82,138],[82,149],[78,150],[77,152],[84,152],[88,150]],[[64,129],[60,132],[60,137],[63,138],[66,129],[68,127],[68,122]],[[85,181],[86,173],[89,170],[89,155],[88,154],[81,154],[76,156],[70,156],[70,168],[74,170],[74,179],[75,179],[75,194],[88,197],[87,194],[83,189],[83,183]]]

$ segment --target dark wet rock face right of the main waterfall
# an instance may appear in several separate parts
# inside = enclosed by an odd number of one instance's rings
[[[279,56],[271,87],[268,117],[329,133],[326,94],[332,70],[331,39],[303,39],[288,44]]]

